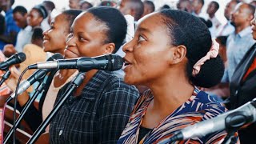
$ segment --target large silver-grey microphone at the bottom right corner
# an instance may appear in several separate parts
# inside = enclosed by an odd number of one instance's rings
[[[206,121],[198,122],[192,126],[179,130],[174,134],[168,142],[175,142],[186,140],[189,138],[202,138],[206,134],[211,134],[221,130],[228,130],[232,128],[240,128],[246,124],[256,121],[256,98],[253,101],[230,110],[226,113],[219,114],[217,117],[208,119]]]

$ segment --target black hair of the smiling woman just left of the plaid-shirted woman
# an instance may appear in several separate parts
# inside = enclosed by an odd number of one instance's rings
[[[76,18],[79,14],[82,13],[82,10],[64,10],[62,14],[65,15],[66,21],[68,22],[67,30],[70,32],[70,27],[72,26],[72,23],[74,22],[74,18]]]

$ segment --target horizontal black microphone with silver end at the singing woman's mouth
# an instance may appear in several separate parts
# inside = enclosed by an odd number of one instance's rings
[[[78,69],[79,71],[97,70],[120,70],[123,59],[118,54],[108,54],[98,57],[81,57],[62,59],[53,62],[38,62],[28,66],[28,69]]]

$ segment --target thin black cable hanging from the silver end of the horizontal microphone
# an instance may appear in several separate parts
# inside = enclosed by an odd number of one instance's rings
[[[16,86],[16,89],[15,89],[15,93],[14,93],[14,122],[13,122],[13,128],[14,128],[14,132],[13,132],[13,143],[15,144],[16,142],[16,109],[17,109],[17,95],[18,95],[18,87],[19,87],[19,84],[22,80],[22,77],[23,75],[26,73],[26,70],[29,70],[27,67],[25,70],[22,71],[22,74],[19,76],[18,78],[18,82],[17,82],[17,86]]]

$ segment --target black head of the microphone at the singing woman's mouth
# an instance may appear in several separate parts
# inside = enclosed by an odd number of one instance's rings
[[[110,66],[108,66],[107,70],[114,71],[120,70],[123,66],[123,58],[118,54],[109,54],[110,56]]]

